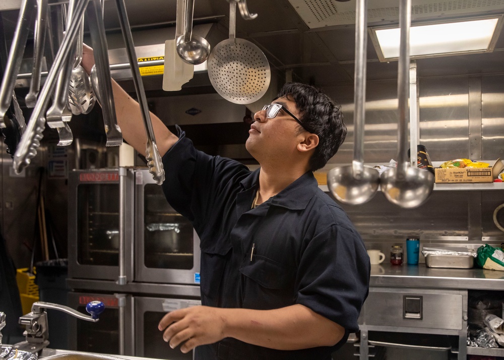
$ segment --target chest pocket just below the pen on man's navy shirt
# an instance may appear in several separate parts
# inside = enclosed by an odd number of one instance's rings
[[[268,310],[294,304],[292,267],[255,255],[240,267],[243,307]]]

